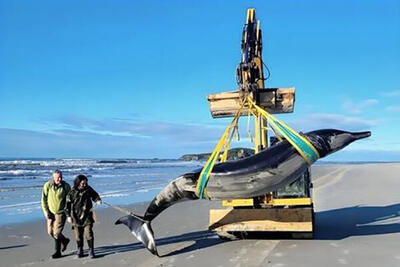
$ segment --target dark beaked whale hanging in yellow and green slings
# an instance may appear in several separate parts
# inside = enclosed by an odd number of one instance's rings
[[[334,129],[312,131],[303,136],[325,157],[350,143],[369,137],[371,132],[346,132]],[[216,164],[206,189],[209,199],[251,198],[271,192],[294,181],[309,164],[289,144],[281,141],[258,154],[233,162]],[[184,200],[199,199],[196,184],[201,169],[171,181],[152,200],[143,217],[136,214],[118,219],[153,254],[158,255],[151,221],[163,210]]]

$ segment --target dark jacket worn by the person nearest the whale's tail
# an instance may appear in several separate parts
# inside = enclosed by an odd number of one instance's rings
[[[85,226],[94,223],[93,204],[100,199],[99,194],[89,185],[85,189],[71,189],[67,195],[65,213],[72,217],[73,224],[76,226]]]

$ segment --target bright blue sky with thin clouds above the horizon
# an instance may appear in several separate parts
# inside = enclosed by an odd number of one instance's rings
[[[400,1],[0,0],[1,157],[212,150],[256,8],[268,87],[296,87],[299,131],[371,130],[328,160],[400,160]],[[249,145],[246,120],[235,146]]]

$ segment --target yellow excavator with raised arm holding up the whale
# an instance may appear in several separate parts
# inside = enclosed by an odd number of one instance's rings
[[[293,112],[294,87],[265,88],[262,31],[255,9],[247,10],[241,48],[242,58],[237,67],[238,90],[207,96],[213,118],[234,117],[237,112],[248,115],[246,108],[241,107],[243,98],[247,96],[271,114]],[[258,153],[273,145],[274,140],[268,140],[267,122],[263,118],[255,117],[254,121],[255,153]],[[209,229],[225,238],[251,232],[289,232],[294,237],[312,238],[314,210],[311,188],[310,172],[306,171],[291,184],[264,196],[224,200],[224,209],[210,210]]]

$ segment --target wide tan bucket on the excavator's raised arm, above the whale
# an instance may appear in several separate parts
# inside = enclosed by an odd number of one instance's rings
[[[260,89],[256,95],[259,97],[259,105],[271,114],[293,112],[294,87]],[[241,105],[239,91],[210,94],[207,100],[213,118],[233,117]],[[241,115],[247,115],[247,112],[245,108]]]

